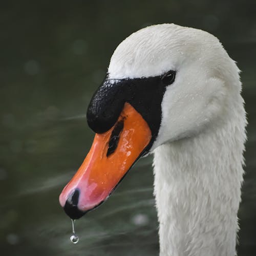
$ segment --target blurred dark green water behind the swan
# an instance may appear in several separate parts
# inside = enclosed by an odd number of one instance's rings
[[[6,1],[0,9],[0,254],[158,255],[152,158],[76,222],[58,203],[86,156],[89,100],[117,45],[152,24],[216,35],[242,70],[249,125],[239,255],[256,255],[256,2]]]

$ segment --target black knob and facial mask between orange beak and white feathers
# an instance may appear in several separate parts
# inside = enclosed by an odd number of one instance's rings
[[[104,133],[116,123],[125,102],[130,103],[147,122],[155,141],[161,123],[161,103],[166,86],[174,82],[175,71],[163,76],[109,79],[108,75],[93,95],[87,110],[88,125],[95,133]]]

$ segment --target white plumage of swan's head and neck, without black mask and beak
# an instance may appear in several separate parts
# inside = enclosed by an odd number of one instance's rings
[[[114,52],[110,78],[177,71],[154,152],[161,256],[236,255],[246,117],[236,63],[211,34],[144,28]]]

